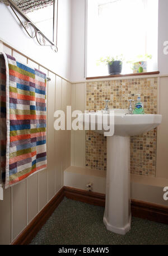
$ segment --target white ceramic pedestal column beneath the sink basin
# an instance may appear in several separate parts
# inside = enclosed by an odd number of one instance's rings
[[[107,175],[104,224],[109,231],[130,230],[130,137],[107,137]]]

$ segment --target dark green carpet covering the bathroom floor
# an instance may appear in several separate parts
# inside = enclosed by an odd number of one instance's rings
[[[133,217],[131,230],[119,235],[106,230],[103,215],[103,207],[64,198],[31,244],[168,244],[168,225]]]

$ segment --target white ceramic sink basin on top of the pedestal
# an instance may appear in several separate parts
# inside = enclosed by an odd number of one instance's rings
[[[153,128],[157,127],[158,124],[161,123],[162,116],[161,115],[154,115],[154,114],[144,114],[144,115],[125,115],[128,113],[128,110],[125,109],[112,109],[114,110],[114,135],[117,136],[134,136],[138,134],[142,134],[144,132],[148,132],[152,130]],[[96,129],[95,132],[104,134],[104,132],[107,132],[103,129],[97,130],[97,124],[99,124],[99,117],[100,115],[104,115],[110,117],[110,114],[101,113],[101,111],[97,111],[94,113],[85,113],[83,114],[83,117],[89,117],[86,118],[86,121],[83,118],[83,123],[91,125],[93,120],[91,116],[95,115],[96,120]],[[109,122],[108,122],[109,124]]]

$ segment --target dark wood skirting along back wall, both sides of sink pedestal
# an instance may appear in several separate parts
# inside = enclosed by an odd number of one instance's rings
[[[87,192],[86,190],[64,187],[65,196],[67,198],[94,204],[96,206],[105,206],[105,194]],[[144,218],[150,221],[168,224],[168,207],[154,203],[131,201],[132,216]]]

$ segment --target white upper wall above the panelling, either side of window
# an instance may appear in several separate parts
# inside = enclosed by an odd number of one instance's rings
[[[164,41],[168,41],[167,9],[167,0],[159,0],[158,70],[161,74],[167,73],[168,64],[168,55],[163,52]],[[29,38],[9,7],[0,3],[0,12],[0,22],[3,24],[0,26],[1,39],[60,76],[70,81],[85,81],[85,0],[59,1],[57,54]]]

